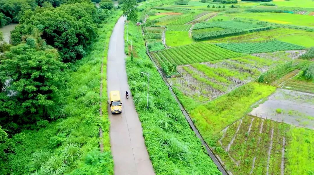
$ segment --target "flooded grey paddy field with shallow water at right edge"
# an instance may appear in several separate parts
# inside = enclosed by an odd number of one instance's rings
[[[314,129],[314,94],[277,89],[251,115]]]

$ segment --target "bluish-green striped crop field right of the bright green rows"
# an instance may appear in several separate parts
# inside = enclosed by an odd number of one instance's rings
[[[301,50],[303,46],[294,45],[282,41],[269,41],[262,43],[231,43],[231,44],[216,44],[219,47],[241,53],[260,53],[274,52],[279,50]]]

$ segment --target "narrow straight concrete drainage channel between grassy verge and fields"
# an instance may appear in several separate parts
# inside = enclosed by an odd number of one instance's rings
[[[143,29],[142,29],[143,30]],[[147,43],[145,42],[145,46],[146,46],[146,54],[149,56],[150,60],[154,63],[157,71],[159,72],[160,76],[162,77],[162,79],[164,80],[164,82],[166,83],[167,87],[169,88],[172,96],[176,99],[176,102],[179,104],[180,109],[183,113],[183,115],[185,116],[185,118],[187,119],[187,122],[189,123],[190,127],[192,128],[192,130],[194,131],[194,133],[196,134],[196,136],[201,140],[202,145],[205,147],[207,154],[210,156],[210,158],[213,160],[213,162],[216,164],[216,166],[218,167],[219,171],[223,174],[223,175],[228,175],[229,173],[225,170],[225,168],[222,166],[222,163],[219,161],[218,157],[214,154],[214,152],[210,149],[210,147],[207,145],[207,143],[203,140],[201,134],[199,133],[199,131],[196,129],[195,125],[192,122],[192,119],[190,117],[189,114],[187,114],[185,108],[182,106],[182,104],[180,103],[179,99],[176,97],[176,94],[173,92],[171,86],[169,85],[166,77],[164,76],[164,74],[160,71],[159,67],[157,66],[156,62],[154,61],[153,57],[149,54],[148,48],[147,48]]]

